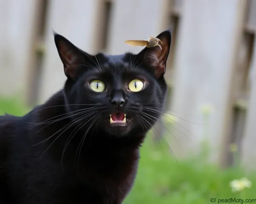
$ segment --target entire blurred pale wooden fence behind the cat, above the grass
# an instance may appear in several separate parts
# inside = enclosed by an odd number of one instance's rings
[[[255,167],[255,0],[1,0],[0,26],[0,94],[21,94],[29,105],[65,80],[52,29],[92,54],[120,54],[140,51],[124,40],[172,28],[166,79],[175,156],[206,140],[225,167],[236,144],[242,163]]]

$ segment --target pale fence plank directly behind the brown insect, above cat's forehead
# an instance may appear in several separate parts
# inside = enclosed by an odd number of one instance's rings
[[[139,52],[124,43],[129,39],[147,39],[167,29],[167,0],[115,0],[111,16],[111,28],[108,39],[109,54],[121,54],[125,51]]]

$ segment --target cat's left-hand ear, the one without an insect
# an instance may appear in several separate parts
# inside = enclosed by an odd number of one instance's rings
[[[79,64],[85,60],[85,54],[60,34],[54,33],[54,41],[64,65],[65,75],[67,78],[74,79],[78,72]]]

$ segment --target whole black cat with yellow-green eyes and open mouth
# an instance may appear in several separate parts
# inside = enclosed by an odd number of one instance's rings
[[[54,38],[64,88],[23,117],[0,117],[0,202],[121,204],[163,108],[171,32],[157,36],[162,50],[117,56]]]

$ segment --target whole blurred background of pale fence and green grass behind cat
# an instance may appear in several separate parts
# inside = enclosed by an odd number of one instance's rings
[[[169,28],[166,114],[125,204],[256,203],[256,0],[0,0],[0,114],[63,87],[53,30],[90,54],[122,54],[142,49],[125,40]],[[233,193],[242,177],[252,186]]]

